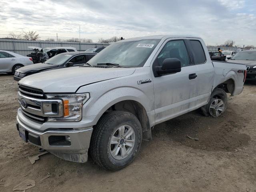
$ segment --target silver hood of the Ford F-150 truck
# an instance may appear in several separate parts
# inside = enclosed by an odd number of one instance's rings
[[[135,68],[70,67],[22,78],[19,84],[45,93],[76,92],[80,86],[133,74]]]

